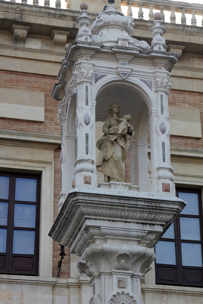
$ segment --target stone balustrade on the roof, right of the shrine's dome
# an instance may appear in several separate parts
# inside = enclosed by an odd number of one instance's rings
[[[185,14],[191,15],[191,26],[197,26],[196,15],[202,16],[202,26],[203,26],[203,4],[190,4],[186,2],[176,2],[170,0],[122,0],[121,5],[128,6],[127,16],[132,16],[132,7],[138,7],[138,19],[144,19],[143,9],[149,9],[149,20],[153,19],[153,10],[159,10],[162,14],[162,22],[165,22],[164,11],[169,11],[170,23],[176,23],[175,12],[181,13],[181,25],[186,25]]]

